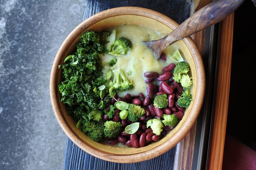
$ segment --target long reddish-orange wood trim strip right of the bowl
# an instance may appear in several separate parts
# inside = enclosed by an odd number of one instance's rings
[[[219,77],[209,170],[221,170],[224,151],[233,43],[234,13],[222,21]]]

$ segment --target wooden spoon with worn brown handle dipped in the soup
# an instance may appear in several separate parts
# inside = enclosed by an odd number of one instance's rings
[[[243,1],[244,0],[217,0],[201,8],[164,38],[143,43],[152,49],[156,59],[159,59],[165,48],[172,43],[220,22],[235,11]]]

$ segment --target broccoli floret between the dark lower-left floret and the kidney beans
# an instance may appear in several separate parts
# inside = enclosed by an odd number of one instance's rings
[[[104,123],[105,137],[116,137],[122,131],[122,124],[120,122],[107,121]]]

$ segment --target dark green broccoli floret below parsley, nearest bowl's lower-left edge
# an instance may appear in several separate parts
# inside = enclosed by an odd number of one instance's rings
[[[85,122],[82,126],[82,131],[92,140],[98,142],[103,138],[104,127],[95,121]]]

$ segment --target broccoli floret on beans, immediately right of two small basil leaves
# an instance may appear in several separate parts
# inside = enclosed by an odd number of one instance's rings
[[[129,107],[127,110],[129,111],[128,119],[132,122],[138,121],[138,119],[141,118],[146,113],[143,108],[134,104],[129,104]]]

